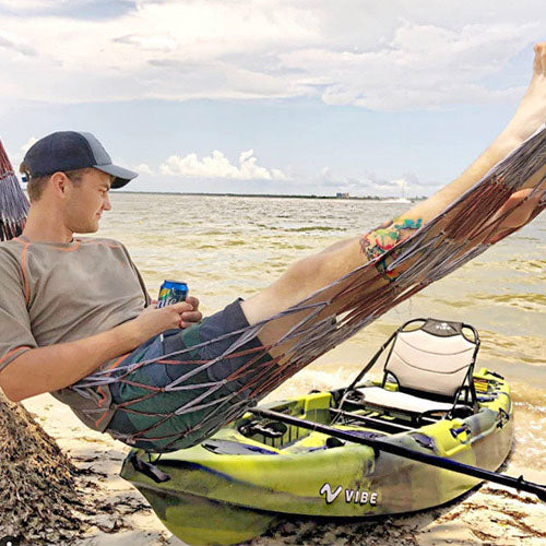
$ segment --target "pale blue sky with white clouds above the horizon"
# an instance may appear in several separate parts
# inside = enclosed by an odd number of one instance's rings
[[[510,120],[544,0],[0,0],[0,139],[130,191],[429,195]]]

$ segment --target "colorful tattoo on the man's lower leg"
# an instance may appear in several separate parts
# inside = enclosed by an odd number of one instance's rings
[[[381,224],[378,228],[360,238],[360,248],[368,260],[383,256],[388,250],[391,250],[399,242],[407,239],[415,230],[423,225],[423,219],[410,219],[404,217],[394,218],[393,221]],[[396,258],[395,252],[391,253],[392,259]],[[396,271],[387,271],[387,260],[378,260],[376,269],[387,280],[394,281],[397,276]]]

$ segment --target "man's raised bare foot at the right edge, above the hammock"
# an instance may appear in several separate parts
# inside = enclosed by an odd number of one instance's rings
[[[503,133],[520,145],[546,121],[546,41],[535,45],[533,76]]]

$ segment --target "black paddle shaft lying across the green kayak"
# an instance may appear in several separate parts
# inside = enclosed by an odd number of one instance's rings
[[[364,446],[372,448],[373,450],[384,451],[385,453],[411,459],[412,461],[417,461],[419,463],[430,464],[431,466],[458,472],[459,474],[465,474],[467,476],[485,479],[487,482],[494,482],[496,484],[506,485],[508,487],[514,487],[515,489],[521,491],[532,492],[533,495],[536,495],[541,500],[546,501],[546,487],[539,484],[534,484],[532,482],[526,482],[525,479],[523,479],[523,476],[520,476],[519,478],[507,476],[506,474],[500,474],[498,472],[486,471],[476,466],[471,466],[468,464],[459,463],[456,461],[452,461],[451,459],[414,451],[403,446],[397,446],[396,443],[391,443],[379,439],[361,438],[348,430],[340,430],[333,427],[329,427],[328,425],[312,423],[310,420],[300,419],[298,417],[293,417],[290,415],[285,415],[278,412],[272,412],[270,410],[252,408],[249,410],[249,412],[261,417],[268,417],[270,419],[286,423],[287,425],[294,425],[308,430],[322,432],[324,435],[332,436],[333,438],[339,438],[340,440],[361,443]]]

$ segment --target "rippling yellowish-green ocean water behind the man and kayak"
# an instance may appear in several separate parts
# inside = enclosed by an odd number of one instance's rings
[[[256,294],[296,260],[365,234],[407,209],[356,200],[116,192],[111,203],[97,235],[128,247],[153,297],[165,278],[185,281],[200,298],[204,314]],[[482,340],[477,367],[497,370],[512,384],[514,458],[546,468],[545,281],[542,214],[323,355],[269,400],[348,383],[392,331],[411,318],[467,322]]]

